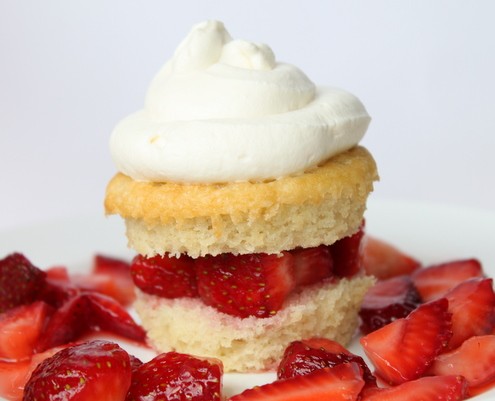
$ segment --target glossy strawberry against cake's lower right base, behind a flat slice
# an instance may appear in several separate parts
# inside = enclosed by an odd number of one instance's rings
[[[304,376],[318,369],[332,368],[349,362],[357,363],[361,367],[367,386],[376,387],[376,378],[371,374],[363,358],[352,354],[339,343],[326,339],[290,343],[279,363],[277,378]]]

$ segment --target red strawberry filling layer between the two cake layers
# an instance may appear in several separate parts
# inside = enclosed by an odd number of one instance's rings
[[[187,255],[146,258],[131,265],[135,285],[163,298],[199,297],[220,312],[240,318],[275,315],[301,287],[330,277],[352,277],[361,268],[363,225],[330,246],[280,254],[225,253],[197,259]]]

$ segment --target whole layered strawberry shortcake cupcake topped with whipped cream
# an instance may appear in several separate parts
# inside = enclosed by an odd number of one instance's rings
[[[273,368],[293,340],[343,344],[373,279],[360,268],[375,162],[353,95],[316,87],[222,23],[195,26],[120,122],[107,214],[125,219],[150,344]]]

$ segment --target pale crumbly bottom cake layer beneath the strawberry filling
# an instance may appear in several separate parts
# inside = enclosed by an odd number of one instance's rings
[[[139,290],[135,308],[157,351],[216,357],[226,372],[259,372],[275,369],[294,340],[326,337],[347,345],[373,283],[372,277],[358,276],[306,287],[266,319],[240,319],[197,298],[165,299]]]

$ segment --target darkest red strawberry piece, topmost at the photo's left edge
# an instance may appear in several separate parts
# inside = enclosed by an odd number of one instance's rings
[[[46,273],[20,253],[0,260],[0,313],[37,300],[45,278]]]

